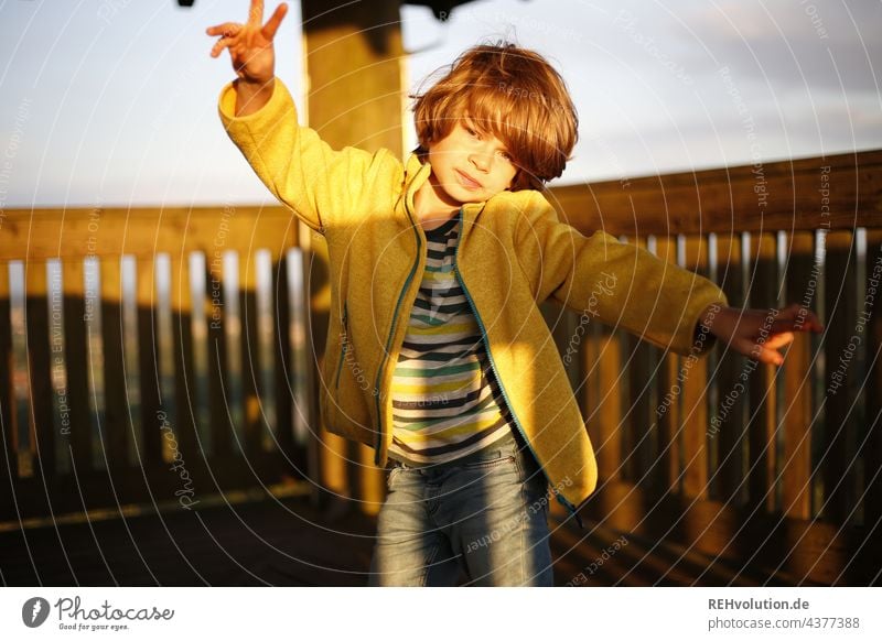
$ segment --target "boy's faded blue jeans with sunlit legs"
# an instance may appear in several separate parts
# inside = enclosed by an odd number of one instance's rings
[[[516,443],[444,466],[392,461],[372,586],[552,586],[545,475]]]

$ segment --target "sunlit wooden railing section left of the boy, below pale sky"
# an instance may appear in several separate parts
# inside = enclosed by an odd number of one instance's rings
[[[6,211],[0,521],[193,509],[306,476],[292,248],[280,207]]]

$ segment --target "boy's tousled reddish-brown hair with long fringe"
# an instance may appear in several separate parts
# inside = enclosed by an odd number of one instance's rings
[[[422,151],[467,115],[506,145],[518,169],[512,191],[541,189],[563,173],[579,117],[563,78],[547,59],[503,42],[474,46],[448,69],[426,93],[411,96]]]

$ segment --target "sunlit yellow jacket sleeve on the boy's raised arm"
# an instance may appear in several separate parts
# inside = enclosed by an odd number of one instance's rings
[[[227,84],[218,99],[220,121],[270,192],[312,229],[324,233],[357,203],[385,150],[334,151],[319,134],[298,123],[297,108],[276,78],[272,97],[260,110],[236,117],[236,87]]]

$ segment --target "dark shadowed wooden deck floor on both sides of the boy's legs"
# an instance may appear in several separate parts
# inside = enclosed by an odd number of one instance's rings
[[[550,525],[556,584],[795,585],[773,568],[713,559],[585,523]],[[363,586],[374,518],[304,497],[173,510],[0,533],[6,586]],[[607,554],[620,536],[627,545]],[[595,564],[592,572],[592,563]]]

